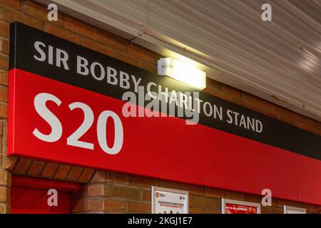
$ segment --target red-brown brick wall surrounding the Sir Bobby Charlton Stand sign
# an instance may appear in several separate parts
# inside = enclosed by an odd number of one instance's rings
[[[259,196],[239,192],[6,157],[9,24],[12,21],[20,21],[154,73],[156,73],[157,60],[161,57],[153,51],[64,14],[58,14],[58,21],[49,22],[46,20],[47,12],[45,6],[36,4],[34,1],[0,0],[0,213],[10,212],[11,175],[88,183],[83,185],[82,192],[73,195],[73,212],[149,213],[151,212],[151,185],[188,190],[190,213],[220,213],[222,197],[260,202]],[[207,93],[321,135],[320,122],[217,81],[208,79],[207,84],[208,87],[205,89]],[[262,212],[282,213],[283,204],[305,207],[310,213],[320,212],[320,206],[282,199],[273,199],[272,207],[262,207]]]

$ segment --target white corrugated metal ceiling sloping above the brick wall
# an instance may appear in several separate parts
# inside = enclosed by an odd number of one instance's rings
[[[321,121],[321,0],[55,2],[161,54],[198,61],[209,78]],[[272,21],[261,19],[265,3]]]

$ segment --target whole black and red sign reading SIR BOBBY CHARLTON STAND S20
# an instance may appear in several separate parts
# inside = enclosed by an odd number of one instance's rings
[[[23,24],[10,44],[9,155],[321,204],[320,136]]]

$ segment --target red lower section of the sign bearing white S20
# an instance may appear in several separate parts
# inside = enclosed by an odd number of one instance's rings
[[[125,118],[123,100],[18,69],[9,88],[9,155],[321,202],[310,157],[180,118]]]

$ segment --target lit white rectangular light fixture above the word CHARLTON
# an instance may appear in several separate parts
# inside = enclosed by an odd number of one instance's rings
[[[168,76],[199,90],[206,87],[206,73],[173,58],[160,58],[157,62],[160,76]]]

